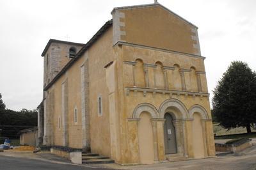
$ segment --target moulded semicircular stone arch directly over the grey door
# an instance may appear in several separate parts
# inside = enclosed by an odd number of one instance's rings
[[[182,102],[180,102],[180,100],[177,99],[168,99],[165,100],[159,107],[159,117],[160,118],[164,118],[164,114],[166,113],[166,111],[168,110],[168,108],[170,107],[174,107],[175,109],[178,109],[179,112],[181,113],[181,118],[182,119],[186,119],[188,118],[188,110],[186,108],[186,106],[184,104],[182,104]],[[177,118],[179,118],[180,116],[175,115]]]

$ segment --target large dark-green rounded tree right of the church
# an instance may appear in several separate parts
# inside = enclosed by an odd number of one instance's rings
[[[213,91],[213,114],[225,128],[256,123],[256,73],[242,61],[233,61]]]

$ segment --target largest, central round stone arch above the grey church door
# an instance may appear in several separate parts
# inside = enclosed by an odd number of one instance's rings
[[[164,118],[166,112],[173,112],[174,119],[186,119],[188,118],[188,110],[180,100],[175,98],[165,100],[159,107],[159,118]]]

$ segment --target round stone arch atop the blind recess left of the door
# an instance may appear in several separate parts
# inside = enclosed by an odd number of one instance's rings
[[[148,104],[148,103],[143,103],[143,104],[139,104],[139,105],[137,105],[137,107],[135,107],[135,109],[132,113],[132,118],[140,118],[141,112],[148,112],[152,118],[158,117],[158,112],[157,112],[156,107],[154,107],[154,105]]]

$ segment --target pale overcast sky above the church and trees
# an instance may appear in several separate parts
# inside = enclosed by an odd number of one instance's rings
[[[118,6],[154,0],[0,0],[0,93],[8,109],[36,109],[50,38],[86,43]],[[255,0],[159,0],[199,27],[209,92],[231,61],[256,70]],[[67,35],[69,39],[67,39]]]

